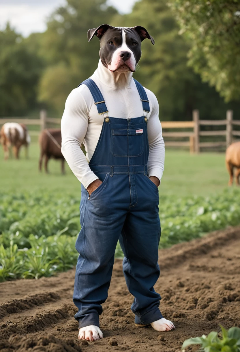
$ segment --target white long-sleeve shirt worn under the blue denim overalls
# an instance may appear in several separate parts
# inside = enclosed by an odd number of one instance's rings
[[[104,97],[108,116],[133,119],[144,114],[132,73],[129,72],[126,84],[118,86],[113,80],[113,74],[99,61],[98,69],[90,78],[97,84]],[[161,181],[164,171],[165,148],[158,117],[159,106],[155,95],[150,90],[144,89],[150,105],[150,112],[147,115],[148,176],[156,176]],[[61,120],[62,154],[74,175],[85,188],[98,178],[89,168],[88,163],[98,143],[103,121],[104,116],[98,114],[92,94],[87,86],[82,84],[73,89],[66,100]],[[80,148],[81,143],[85,146],[86,156]]]

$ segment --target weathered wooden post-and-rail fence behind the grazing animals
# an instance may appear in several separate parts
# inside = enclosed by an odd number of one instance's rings
[[[32,136],[38,136],[40,131],[47,128],[49,124],[58,125],[59,127],[61,119],[49,118],[47,117],[46,110],[41,110],[39,119],[0,118],[0,126],[5,124],[5,122],[19,122],[25,125],[37,125],[39,126],[39,131],[30,130],[29,133]],[[234,137],[240,137],[240,129],[233,129],[233,126],[240,126],[240,120],[233,120],[232,110],[227,111],[226,120],[200,120],[199,111],[193,110],[192,121],[161,121],[161,125],[162,135],[165,139],[166,146],[180,148],[187,147],[191,153],[199,153],[204,148],[226,148],[235,141]],[[201,130],[201,126],[211,126],[213,128],[211,130],[203,131]],[[215,126],[226,126],[226,129],[215,130]],[[209,136],[224,136],[225,141],[201,142],[201,137]],[[169,138],[174,140],[168,140]]]

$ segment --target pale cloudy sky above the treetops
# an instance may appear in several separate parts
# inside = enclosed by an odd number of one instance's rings
[[[87,0],[86,0],[87,1]],[[108,0],[121,13],[131,11],[136,0]],[[44,32],[46,18],[65,0],[0,0],[0,29],[9,20],[25,37],[32,32]]]

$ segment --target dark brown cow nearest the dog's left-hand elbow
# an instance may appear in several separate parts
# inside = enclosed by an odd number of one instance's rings
[[[39,171],[42,170],[42,159],[45,156],[45,171],[48,173],[48,161],[50,158],[61,159],[61,170],[62,174],[65,174],[64,170],[64,156],[61,152],[62,136],[61,130],[49,128],[41,132],[39,136],[40,144],[40,159],[39,159]]]

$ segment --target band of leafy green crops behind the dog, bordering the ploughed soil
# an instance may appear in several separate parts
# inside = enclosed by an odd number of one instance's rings
[[[76,265],[78,196],[0,193],[0,282],[56,275]],[[160,196],[160,247],[240,224],[240,189],[215,196]],[[115,256],[123,257],[118,243]]]

